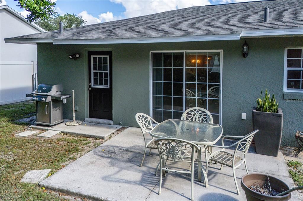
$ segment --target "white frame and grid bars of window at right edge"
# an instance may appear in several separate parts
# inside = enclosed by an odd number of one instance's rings
[[[301,58],[288,58],[287,53],[288,49],[301,49]],[[287,67],[287,60],[288,59],[301,59],[301,67],[298,68],[288,68]],[[288,79],[288,71],[301,71],[300,73],[300,79]],[[301,92],[303,93],[303,77],[302,77],[302,72],[303,72],[303,47],[287,47],[285,48],[284,52],[284,91],[285,92]],[[288,80],[299,80],[300,81],[300,89],[291,89],[287,88],[287,82]]]

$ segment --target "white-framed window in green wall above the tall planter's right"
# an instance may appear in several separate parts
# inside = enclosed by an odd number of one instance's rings
[[[303,47],[285,48],[284,91],[303,92]]]

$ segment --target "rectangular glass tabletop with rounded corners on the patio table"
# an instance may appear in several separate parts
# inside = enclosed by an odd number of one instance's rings
[[[222,126],[218,124],[170,119],[155,126],[150,135],[183,139],[196,145],[213,145],[221,138],[222,132]]]

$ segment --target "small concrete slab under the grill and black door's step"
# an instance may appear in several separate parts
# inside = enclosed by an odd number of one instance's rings
[[[105,124],[86,123],[86,122],[83,122],[78,126],[67,126],[65,125],[65,123],[68,121],[72,121],[72,120],[64,120],[63,123],[59,123],[55,126],[42,126],[35,124],[30,127],[35,129],[41,129],[41,130],[61,131],[72,135],[100,138],[105,140],[107,140],[113,132],[122,128],[122,126],[120,125],[105,125]]]

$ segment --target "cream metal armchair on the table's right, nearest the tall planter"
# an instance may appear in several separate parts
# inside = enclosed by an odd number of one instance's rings
[[[238,195],[240,195],[240,191],[239,191],[237,180],[236,180],[235,169],[238,168],[242,163],[244,163],[246,173],[248,174],[245,155],[248,152],[248,148],[251,144],[251,141],[252,141],[255,133],[258,132],[258,131],[259,130],[255,130],[255,131],[247,134],[246,136],[224,136],[222,138],[222,146],[212,145],[212,147],[218,147],[218,148],[221,148],[221,149],[218,150],[218,151],[213,152],[208,157],[206,156],[206,153],[205,153],[206,174],[208,172],[208,161],[209,160],[215,161],[215,162],[221,164],[220,170],[222,170],[223,165],[231,167],[233,175],[234,175],[234,180],[235,180],[235,184],[236,184],[236,188],[237,188],[237,193],[238,193]],[[226,137],[228,137],[228,138],[241,138],[241,139],[238,142],[233,143],[232,145],[224,146],[224,139]],[[230,154],[228,152],[225,152],[225,148],[231,148],[233,146],[236,147],[235,151],[234,151],[234,154]],[[210,147],[210,146],[207,146],[207,148],[208,147]]]

